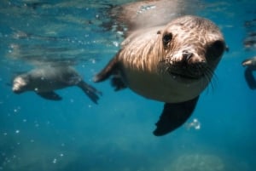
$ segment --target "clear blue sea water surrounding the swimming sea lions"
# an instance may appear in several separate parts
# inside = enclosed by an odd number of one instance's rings
[[[245,26],[256,19],[255,1],[195,4],[196,14],[221,28],[230,51],[188,123],[163,137],[152,134],[162,103],[91,79],[122,41],[102,26],[110,20],[106,11],[127,1],[35,2],[0,3],[0,170],[256,170],[256,91],[241,66],[255,55],[255,44],[243,46],[256,31],[255,21]],[[72,63],[103,92],[99,104],[76,87],[58,90],[58,102],[12,92],[15,74],[49,60]],[[195,118],[201,127],[188,128]]]

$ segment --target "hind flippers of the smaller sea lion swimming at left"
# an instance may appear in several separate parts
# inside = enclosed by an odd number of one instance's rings
[[[84,81],[81,81],[78,86],[84,91],[84,94],[86,94],[90,100],[97,104],[97,100],[99,100],[99,96],[97,94],[102,95],[102,92],[98,91],[96,88],[90,86]]]

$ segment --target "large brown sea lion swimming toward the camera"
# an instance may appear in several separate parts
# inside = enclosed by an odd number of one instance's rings
[[[225,48],[224,37],[212,21],[185,15],[166,26],[132,32],[94,81],[112,76],[116,90],[128,87],[148,99],[165,102],[154,130],[154,135],[164,135],[181,126],[194,111]]]

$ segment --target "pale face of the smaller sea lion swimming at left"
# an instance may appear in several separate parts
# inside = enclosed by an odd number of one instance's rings
[[[26,91],[27,82],[28,82],[28,79],[26,77],[23,77],[23,76],[15,77],[13,81],[13,88],[12,88],[13,92],[15,92],[15,94],[20,94]]]

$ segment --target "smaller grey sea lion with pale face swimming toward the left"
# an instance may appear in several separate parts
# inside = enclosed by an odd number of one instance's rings
[[[44,66],[20,74],[14,78],[12,90],[15,94],[34,91],[46,100],[61,100],[61,96],[54,90],[70,86],[81,88],[94,103],[97,103],[98,94],[101,94],[85,83],[71,66]]]

